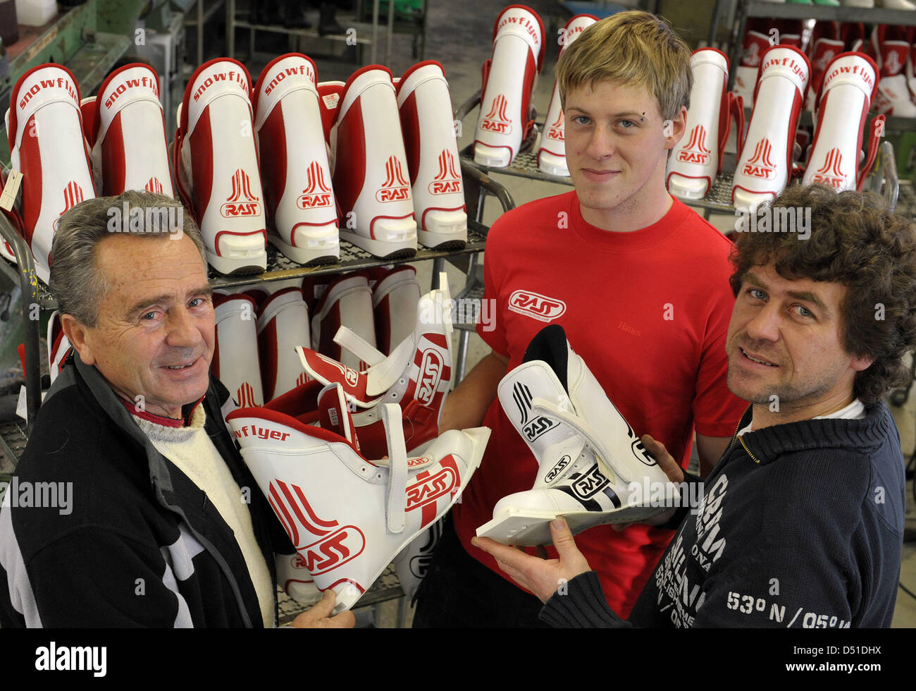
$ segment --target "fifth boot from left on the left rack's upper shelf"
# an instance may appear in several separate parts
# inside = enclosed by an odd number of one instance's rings
[[[391,72],[369,65],[347,80],[331,129],[340,236],[383,258],[417,252],[417,222]]]

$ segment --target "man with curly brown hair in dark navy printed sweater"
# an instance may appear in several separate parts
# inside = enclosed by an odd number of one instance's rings
[[[728,388],[751,406],[628,620],[606,606],[562,520],[551,524],[551,561],[474,539],[546,602],[541,620],[890,625],[906,499],[900,436],[880,397],[905,376],[902,357],[916,345],[913,228],[875,195],[821,186],[792,187],[776,207],[810,210],[812,233],[737,242]],[[665,447],[643,442],[680,481]]]

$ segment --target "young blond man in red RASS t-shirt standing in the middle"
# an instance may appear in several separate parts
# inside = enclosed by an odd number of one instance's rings
[[[711,468],[745,408],[725,386],[731,243],[665,189],[690,101],[690,49],[657,17],[624,12],[586,29],[557,79],[575,190],[503,215],[487,237],[485,299],[495,301],[496,328],[478,333],[492,353],[449,397],[442,429],[483,423],[493,433],[420,588],[415,626],[539,625],[538,598],[470,541],[496,501],[534,482],[537,462],[496,387],[546,324],[562,325],[627,421],[681,466],[695,431]],[[598,526],[578,538],[622,616],[671,534]]]

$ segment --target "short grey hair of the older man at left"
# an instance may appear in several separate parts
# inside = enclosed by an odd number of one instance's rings
[[[170,210],[174,211],[170,211]],[[113,233],[169,239],[191,238],[207,265],[201,232],[180,202],[163,194],[128,190],[116,197],[96,197],[60,216],[51,244],[49,288],[60,313],[94,326],[108,284],[95,263],[96,247]]]

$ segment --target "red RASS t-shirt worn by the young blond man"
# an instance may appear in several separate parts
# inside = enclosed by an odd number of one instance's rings
[[[700,434],[731,436],[747,408],[725,386],[732,247],[676,199],[658,223],[631,233],[586,223],[575,192],[527,203],[502,215],[487,236],[485,300],[495,301],[494,319],[477,332],[508,356],[511,370],[540,329],[562,325],[634,431],[651,434],[686,467],[694,426]],[[551,304],[538,302],[540,312],[513,308],[516,291]],[[453,517],[468,554],[507,577],[471,538],[493,518],[499,499],[531,488],[538,464],[498,399],[483,424],[493,432]],[[576,543],[598,572],[608,605],[627,617],[672,535],[643,524],[623,532],[602,525]]]

